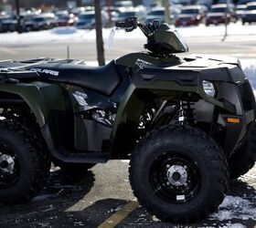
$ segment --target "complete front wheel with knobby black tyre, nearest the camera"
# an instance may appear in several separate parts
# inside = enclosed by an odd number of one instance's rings
[[[133,152],[130,181],[142,206],[159,219],[194,223],[214,212],[229,185],[226,157],[201,130],[154,130]]]

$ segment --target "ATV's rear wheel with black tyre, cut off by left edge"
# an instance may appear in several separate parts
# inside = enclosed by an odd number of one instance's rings
[[[44,144],[14,120],[0,123],[0,202],[27,202],[48,181],[50,159]]]

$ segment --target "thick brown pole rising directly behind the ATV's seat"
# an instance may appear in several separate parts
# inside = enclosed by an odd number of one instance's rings
[[[104,56],[104,43],[103,43],[102,22],[101,22],[101,0],[94,0],[94,7],[95,7],[97,57],[98,57],[99,66],[104,66],[105,56]]]

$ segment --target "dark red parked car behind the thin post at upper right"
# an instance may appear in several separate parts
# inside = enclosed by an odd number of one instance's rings
[[[229,5],[229,7],[227,4],[212,5],[207,15],[206,25],[217,26],[219,24],[225,24],[226,16],[228,23],[237,21],[234,5]]]

